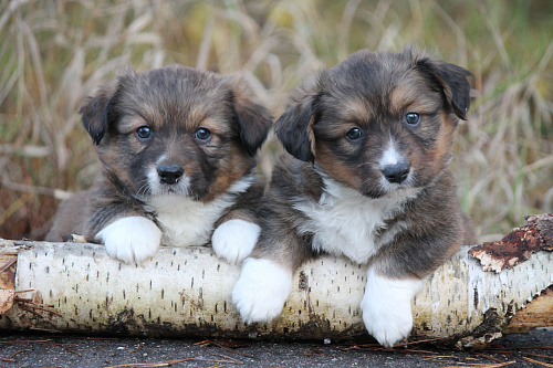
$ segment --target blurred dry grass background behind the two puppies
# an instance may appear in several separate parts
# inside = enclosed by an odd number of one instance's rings
[[[0,2],[0,236],[45,235],[98,166],[77,114],[125,66],[239,72],[274,117],[304,76],[415,44],[470,70],[451,164],[480,241],[553,212],[553,1],[10,0]],[[269,175],[280,150],[260,156]]]

